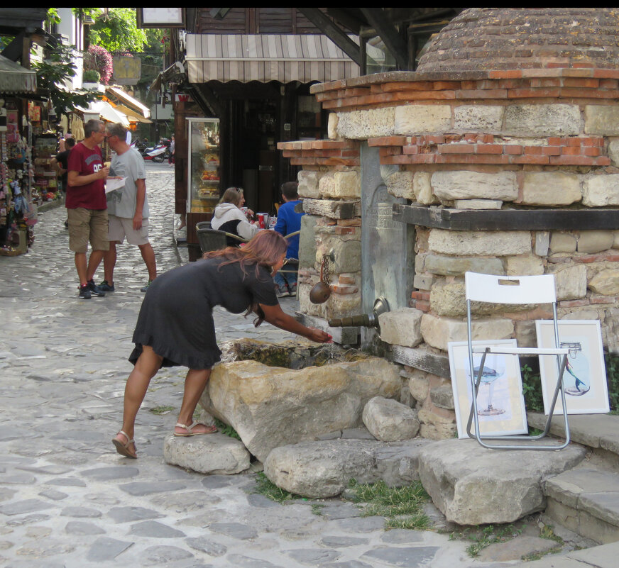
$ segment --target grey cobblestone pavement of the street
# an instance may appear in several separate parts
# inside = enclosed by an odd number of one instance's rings
[[[185,252],[172,246],[172,172],[151,164],[147,172],[150,236],[163,272],[185,262]],[[350,503],[327,501],[317,516],[310,501],[278,505],[252,493],[255,474],[204,476],[166,465],[163,438],[185,369],[153,379],[136,424],[140,457],[120,457],[110,440],[121,424],[146,268],[137,247],[119,247],[116,292],[80,301],[65,209],[39,219],[31,252],[0,257],[2,566],[489,565],[468,559],[466,545],[447,535],[385,531],[383,518],[361,518]],[[216,324],[220,340],[291,337],[224,311]],[[160,406],[175,410],[148,411]]]

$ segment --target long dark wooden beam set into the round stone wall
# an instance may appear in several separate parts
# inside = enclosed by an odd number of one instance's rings
[[[619,209],[453,209],[395,204],[393,220],[447,230],[615,230]]]

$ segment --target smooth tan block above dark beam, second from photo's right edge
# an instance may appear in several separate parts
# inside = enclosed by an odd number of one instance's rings
[[[579,177],[566,172],[525,172],[522,204],[569,205],[582,199]]]

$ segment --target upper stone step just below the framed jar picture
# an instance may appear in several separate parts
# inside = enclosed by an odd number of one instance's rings
[[[542,430],[547,416],[542,413],[527,413],[527,421],[533,428]],[[563,416],[553,416],[550,433],[559,438],[565,436]],[[613,469],[619,469],[619,416],[610,414],[571,414],[569,433],[573,442],[590,447],[596,457]]]

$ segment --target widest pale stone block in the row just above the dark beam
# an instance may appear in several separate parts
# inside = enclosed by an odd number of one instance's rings
[[[518,196],[515,172],[434,172],[432,191],[439,199],[498,199],[513,201]]]

